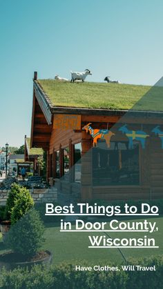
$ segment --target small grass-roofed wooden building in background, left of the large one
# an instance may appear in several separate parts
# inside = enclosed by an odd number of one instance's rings
[[[43,157],[43,149],[42,148],[30,148],[30,137],[26,137],[25,135],[25,152],[24,159],[26,162],[30,162],[33,164],[33,173],[34,175],[40,175],[40,168],[38,158]]]

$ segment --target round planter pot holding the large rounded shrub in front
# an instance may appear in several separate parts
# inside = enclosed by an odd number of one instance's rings
[[[40,253],[40,252],[39,252]],[[34,265],[43,265],[43,264],[50,264],[52,262],[52,253],[48,250],[44,251],[43,258],[36,258],[34,261],[17,261],[17,255],[12,252],[6,252],[2,255],[0,255],[0,269],[5,267],[7,270],[11,270],[14,268],[17,268],[18,266],[23,267],[32,267]]]

